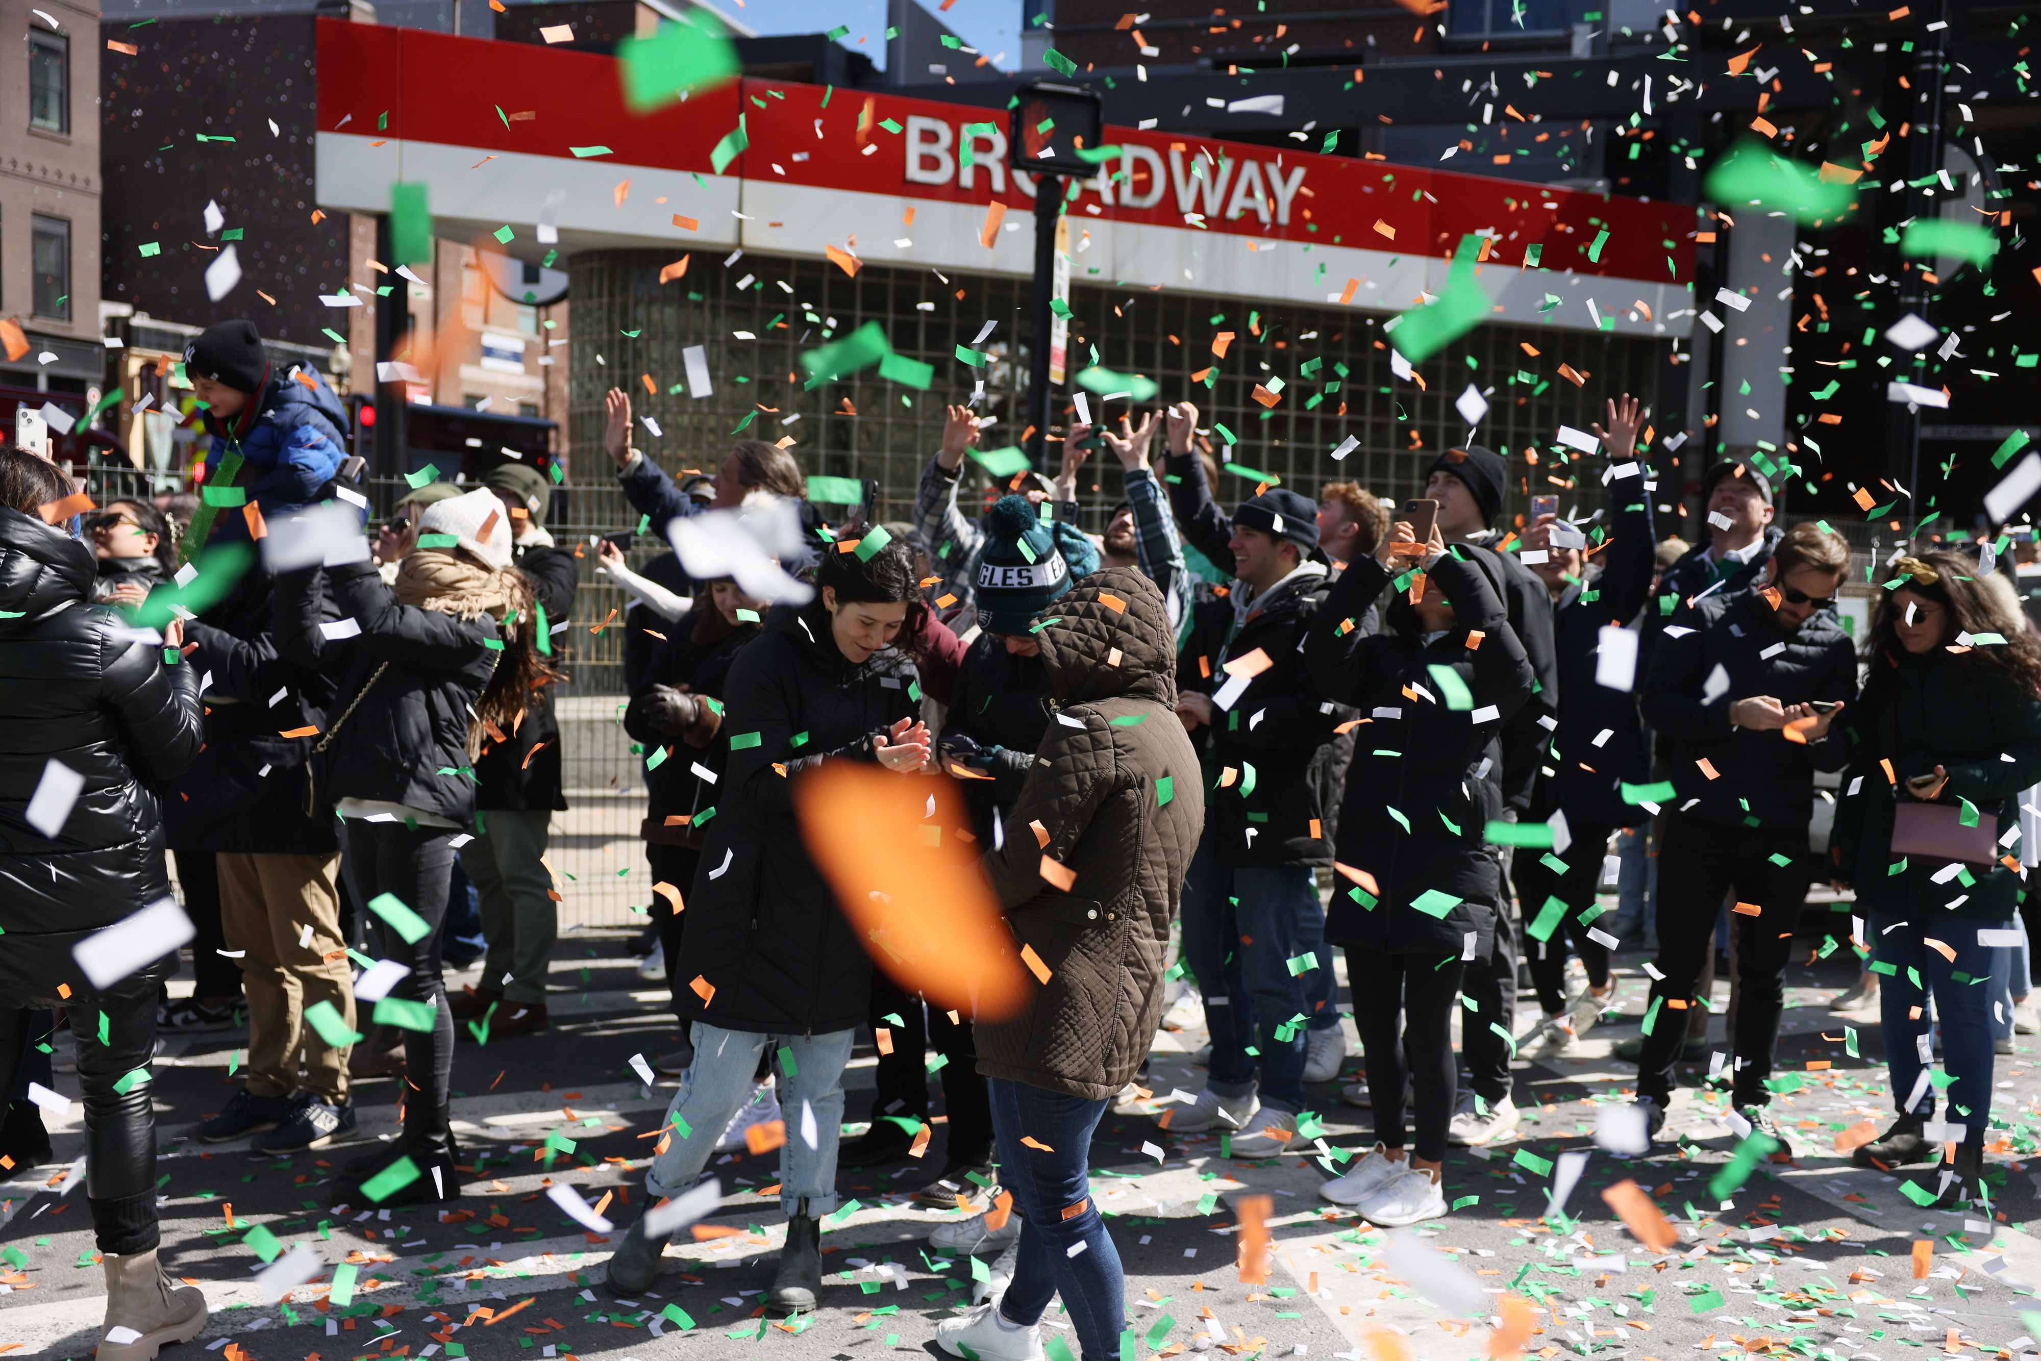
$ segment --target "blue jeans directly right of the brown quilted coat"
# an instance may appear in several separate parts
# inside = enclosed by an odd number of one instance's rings
[[[1255,1090],[1261,1100],[1304,1110],[1304,1028],[1323,990],[1333,981],[1325,955],[1325,906],[1310,869],[1243,865],[1225,869],[1212,833],[1184,875],[1184,955],[1204,994],[1204,1024],[1212,1032],[1212,1065],[1204,1086],[1221,1096]],[[1302,977],[1290,961],[1314,955]],[[1323,981],[1321,977],[1323,975]],[[1331,1010],[1331,1008],[1327,1008]],[[1280,1035],[1278,1035],[1280,1030]]]

